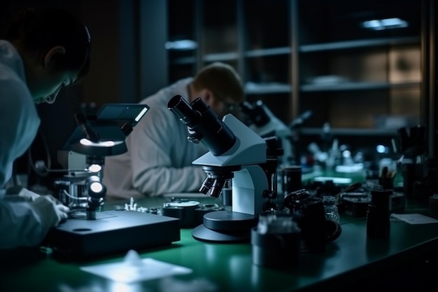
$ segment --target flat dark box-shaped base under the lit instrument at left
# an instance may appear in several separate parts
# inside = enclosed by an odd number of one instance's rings
[[[96,218],[68,219],[53,228],[43,244],[52,248],[55,258],[81,260],[181,240],[178,218],[128,210],[101,211]]]

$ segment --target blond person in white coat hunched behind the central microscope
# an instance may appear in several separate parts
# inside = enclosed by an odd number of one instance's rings
[[[105,160],[106,197],[129,199],[198,192],[206,173],[192,161],[208,150],[201,143],[188,141],[187,127],[167,108],[175,95],[188,102],[201,97],[220,118],[244,99],[239,75],[233,67],[220,62],[143,99],[141,103],[150,109],[127,138],[127,153]]]

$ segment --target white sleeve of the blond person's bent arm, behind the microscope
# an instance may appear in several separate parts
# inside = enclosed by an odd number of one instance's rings
[[[206,174],[199,165],[173,166],[171,160],[175,158],[171,158],[170,148],[175,147],[171,144],[181,143],[178,142],[181,128],[169,123],[169,114],[163,111],[168,109],[150,111],[129,137],[132,183],[140,193],[151,196],[197,192]],[[178,155],[187,153],[181,147]]]

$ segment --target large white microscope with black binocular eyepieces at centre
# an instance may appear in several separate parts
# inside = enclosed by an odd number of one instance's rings
[[[209,149],[192,162],[201,165],[207,174],[199,192],[219,197],[227,183],[232,187],[231,210],[204,214],[204,223],[192,231],[192,236],[205,242],[248,241],[265,202],[276,196],[273,190],[276,165],[267,159],[267,141],[232,114],[220,120],[200,98],[188,104],[181,95],[176,95],[169,100],[168,107],[187,125],[188,139],[202,142]],[[274,151],[270,156],[276,155]]]

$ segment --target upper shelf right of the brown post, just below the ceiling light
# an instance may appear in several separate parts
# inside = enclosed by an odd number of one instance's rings
[[[379,46],[393,46],[409,43],[419,43],[419,37],[397,37],[386,39],[363,39],[355,41],[337,41],[334,43],[316,43],[299,47],[300,53],[320,52],[325,50],[346,50],[351,48],[369,48]]]

